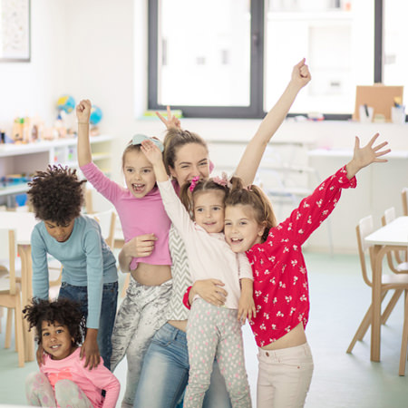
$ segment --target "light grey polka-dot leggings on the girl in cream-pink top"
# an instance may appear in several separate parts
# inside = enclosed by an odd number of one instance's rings
[[[202,406],[209,388],[214,357],[225,378],[232,406],[251,406],[237,309],[213,306],[202,299],[194,300],[187,324],[187,344],[189,385],[184,396],[184,408]]]

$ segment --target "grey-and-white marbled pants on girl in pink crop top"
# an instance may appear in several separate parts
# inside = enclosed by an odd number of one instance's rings
[[[151,337],[167,321],[165,312],[169,305],[171,287],[171,279],[158,287],[147,287],[131,277],[126,296],[121,302],[113,326],[111,370],[113,372],[126,355],[128,373],[121,402],[123,408],[133,406],[143,358]]]

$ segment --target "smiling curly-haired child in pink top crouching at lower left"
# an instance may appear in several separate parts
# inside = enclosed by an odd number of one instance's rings
[[[45,352],[40,373],[32,373],[26,379],[28,403],[61,408],[115,408],[119,381],[103,364],[90,370],[80,358],[85,320],[79,306],[63,298],[35,298],[23,313],[30,329],[35,327],[38,345]]]

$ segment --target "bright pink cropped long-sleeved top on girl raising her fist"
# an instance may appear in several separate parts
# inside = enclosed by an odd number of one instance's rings
[[[92,162],[82,166],[81,170],[92,186],[115,206],[125,242],[142,234],[154,234],[158,238],[149,257],[132,258],[131,270],[136,269],[138,262],[171,265],[170,219],[164,210],[159,189],[155,187],[143,198],[136,199],[129,189],[107,178]]]

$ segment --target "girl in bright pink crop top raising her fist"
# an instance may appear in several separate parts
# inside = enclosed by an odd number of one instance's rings
[[[130,285],[121,302],[112,331],[111,369],[127,357],[126,390],[122,408],[133,406],[144,355],[151,337],[166,322],[172,280],[169,250],[170,219],[164,210],[151,162],[141,151],[147,136],[137,134],[122,156],[126,188],[106,177],[92,162],[89,141],[91,102],[81,101],[78,118],[78,161],[83,175],[103,197],[110,200],[121,219],[126,248],[138,248],[138,257],[127,257]],[[177,119],[171,123],[180,124]],[[163,151],[163,145],[153,140]]]

